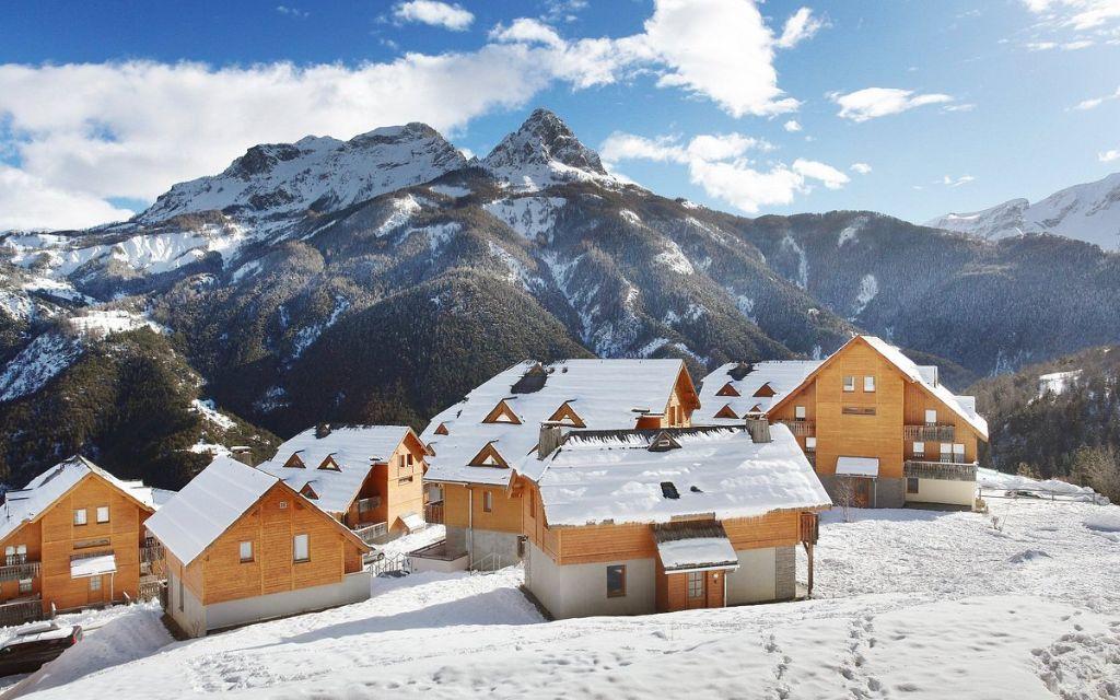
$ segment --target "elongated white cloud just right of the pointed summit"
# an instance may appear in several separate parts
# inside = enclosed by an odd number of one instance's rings
[[[739,133],[702,134],[682,143],[676,137],[647,139],[616,132],[603,143],[600,155],[609,168],[622,160],[687,166],[689,179],[708,196],[748,214],[762,206],[791,204],[796,195],[811,192],[813,183],[838,189],[849,181],[843,172],[815,160],[799,158],[792,166],[777,162],[759,167],[747,157],[772,148],[764,140]]]

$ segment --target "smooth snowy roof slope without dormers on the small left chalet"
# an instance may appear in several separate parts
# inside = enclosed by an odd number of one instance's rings
[[[278,482],[231,457],[217,457],[144,526],[188,564]]]

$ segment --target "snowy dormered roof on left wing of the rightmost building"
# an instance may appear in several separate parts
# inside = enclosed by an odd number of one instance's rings
[[[721,365],[703,379],[703,384],[700,386],[700,408],[692,414],[692,424],[739,424],[747,413],[765,413],[787,393],[800,386],[819,366],[821,366],[819,360],[775,360],[756,362],[743,367],[737,362]],[[749,371],[744,375],[740,370]],[[736,376],[741,379],[737,380]],[[728,384],[739,394],[738,396],[717,395]],[[755,396],[766,384],[769,384],[774,395]],[[724,407],[729,407],[735,412],[735,418],[717,418],[716,414],[722,411]],[[757,411],[755,407],[758,407]]]

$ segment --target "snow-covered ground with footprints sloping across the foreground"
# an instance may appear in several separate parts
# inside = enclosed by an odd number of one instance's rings
[[[376,579],[365,603],[88,664],[36,697],[1118,697],[1120,508],[991,510],[827,514],[809,601],[547,623],[520,569],[418,573]]]

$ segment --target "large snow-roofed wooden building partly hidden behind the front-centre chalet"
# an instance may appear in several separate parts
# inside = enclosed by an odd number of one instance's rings
[[[421,435],[426,480],[441,489],[447,548],[473,566],[517,561],[522,505],[513,465],[535,452],[541,427],[652,430],[687,427],[699,399],[679,360],[521,362],[432,419]]]

